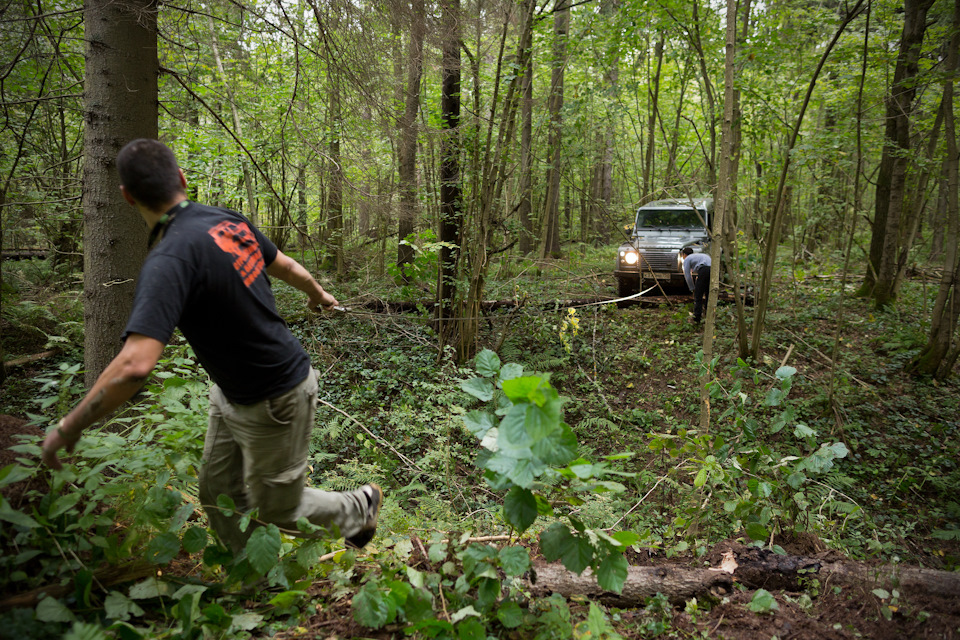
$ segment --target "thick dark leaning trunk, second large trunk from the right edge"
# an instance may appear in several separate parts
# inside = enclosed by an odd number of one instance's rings
[[[917,95],[920,49],[927,28],[927,10],[934,0],[905,0],[900,51],[887,96],[883,154],[877,174],[876,208],[870,256],[862,295],[871,295],[877,308],[896,298],[897,248],[904,185],[910,164],[910,114]]]

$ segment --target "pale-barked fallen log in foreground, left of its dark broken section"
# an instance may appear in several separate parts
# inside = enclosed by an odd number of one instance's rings
[[[530,579],[530,591],[534,596],[552,593],[565,598],[586,596],[621,608],[642,607],[648,598],[658,593],[667,596],[674,605],[682,605],[691,598],[721,598],[732,593],[734,588],[733,576],[720,569],[629,567],[621,593],[601,588],[590,569],[577,575],[562,565],[543,564],[534,568],[534,574],[535,578]]]

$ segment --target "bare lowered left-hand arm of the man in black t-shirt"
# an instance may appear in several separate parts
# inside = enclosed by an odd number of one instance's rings
[[[107,365],[93,388],[43,441],[43,463],[60,469],[57,451],[73,451],[80,434],[91,424],[109,415],[140,390],[163,353],[164,344],[155,338],[131,333],[120,353]]]

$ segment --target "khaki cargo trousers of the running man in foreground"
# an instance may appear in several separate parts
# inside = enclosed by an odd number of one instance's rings
[[[359,490],[320,491],[305,486],[310,432],[317,408],[317,372],[297,387],[252,405],[234,404],[216,385],[210,390],[210,416],[200,468],[200,503],[210,526],[234,553],[255,528],[245,532],[240,516],[259,509],[258,519],[297,531],[306,518],[349,537],[365,523],[366,497]],[[236,512],[227,517],[217,496],[229,496]],[[334,529],[336,527],[336,531]]]

